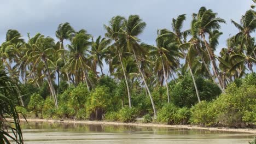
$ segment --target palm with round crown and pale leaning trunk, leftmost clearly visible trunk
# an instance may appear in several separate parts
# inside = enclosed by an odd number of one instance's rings
[[[49,64],[54,65],[53,53],[56,51],[54,39],[51,37],[44,37],[44,35],[38,33],[33,38],[28,40],[28,44],[25,45],[27,49],[28,59],[27,61],[32,63],[32,70],[42,69],[46,80],[48,81],[51,95],[53,95],[55,106],[58,107],[57,95],[54,89],[53,80],[51,79],[51,71]]]

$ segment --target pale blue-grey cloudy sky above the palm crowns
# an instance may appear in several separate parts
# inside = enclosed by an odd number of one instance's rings
[[[79,31],[86,29],[94,37],[104,35],[103,24],[116,15],[128,17],[139,15],[147,23],[139,38],[148,44],[155,44],[157,29],[171,29],[172,18],[186,14],[183,30],[189,29],[191,15],[200,7],[212,9],[218,17],[226,20],[220,31],[224,34],[219,39],[216,51],[225,47],[226,39],[238,30],[230,20],[239,22],[241,16],[250,9],[252,0],[9,0],[0,2],[0,43],[5,40],[8,29],[17,29],[27,39],[36,33],[55,38],[57,26],[63,22]],[[252,35],[255,37],[254,35]],[[56,39],[56,38],[55,38]],[[57,40],[57,39],[56,39]]]

